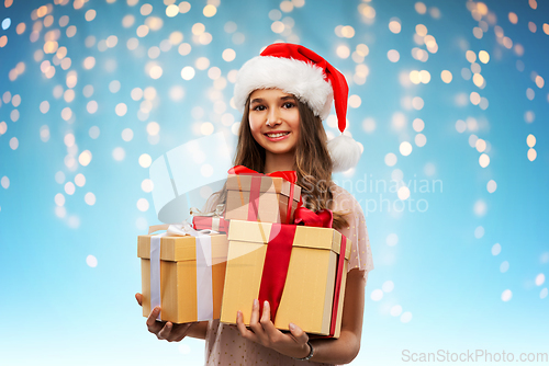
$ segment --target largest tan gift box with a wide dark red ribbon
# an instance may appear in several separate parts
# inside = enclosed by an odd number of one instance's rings
[[[305,208],[300,208],[305,210]],[[314,213],[312,213],[314,215]],[[329,213],[332,220],[332,213]],[[332,228],[232,220],[221,321],[249,324],[268,300],[274,327],[339,336],[350,241]]]

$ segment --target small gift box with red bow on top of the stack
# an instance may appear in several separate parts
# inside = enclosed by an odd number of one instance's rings
[[[242,165],[227,178],[225,219],[291,224],[300,206],[301,187],[294,171],[264,175]]]

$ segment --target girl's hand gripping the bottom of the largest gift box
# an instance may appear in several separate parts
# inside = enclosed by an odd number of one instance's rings
[[[290,323],[290,333],[285,334],[274,328],[270,319],[270,306],[268,301],[265,301],[264,313],[259,319],[259,301],[257,299],[254,300],[249,320],[249,328],[251,330],[248,330],[244,325],[242,311],[236,313],[236,325],[244,339],[262,344],[283,355],[302,358],[306,357],[311,352],[307,345],[309,335],[301,328]]]

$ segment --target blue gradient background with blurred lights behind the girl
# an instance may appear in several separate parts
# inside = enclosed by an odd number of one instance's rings
[[[278,1],[221,1],[213,2],[217,12],[212,18],[203,15],[204,1],[191,1],[188,13],[175,18],[166,15],[166,4],[150,1],[150,15],[163,19],[158,31],[150,31],[138,37],[138,52],[128,50],[126,42],[136,37],[137,26],[145,19],[139,13],[146,3],[136,5],[116,0],[90,0],[81,9],[75,9],[70,1],[66,5],[53,4],[48,14],[54,23],[44,27],[38,41],[31,42],[30,34],[35,21],[33,10],[46,4],[43,1],[14,0],[0,4],[0,22],[9,18],[11,25],[0,28],[0,37],[8,43],[0,48],[0,96],[9,92],[19,94],[21,104],[14,107],[10,100],[0,104],[0,122],[7,130],[0,135],[0,178],[9,179],[0,187],[0,364],[2,365],[156,365],[203,363],[203,342],[186,339],[180,343],[159,342],[145,328],[141,308],[134,294],[141,289],[139,261],[136,258],[136,236],[144,233],[144,222],[157,224],[150,193],[141,188],[148,178],[148,170],[138,163],[143,153],[153,160],[166,151],[200,136],[200,126],[210,122],[214,131],[225,131],[234,144],[231,126],[221,123],[222,114],[229,113],[235,122],[239,113],[229,106],[233,83],[227,81],[220,99],[226,103],[226,111],[213,111],[214,102],[209,98],[213,80],[208,70],[198,70],[192,80],[180,76],[186,66],[195,68],[199,57],[206,57],[210,67],[219,67],[223,77],[238,69],[244,61],[256,56],[261,47],[277,41],[298,41],[324,56],[352,79],[356,62],[351,57],[340,58],[337,47],[346,45],[352,53],[358,44],[366,44],[369,54],[362,64],[369,68],[366,83],[350,82],[350,94],[361,99],[359,107],[349,107],[349,131],[363,145],[365,151],[356,170],[337,174],[336,181],[348,187],[349,182],[359,180],[383,180],[390,182],[393,171],[399,169],[407,184],[412,180],[410,199],[425,199],[425,211],[386,211],[379,208],[379,194],[391,203],[397,201],[394,192],[376,192],[355,186],[351,193],[366,210],[368,199],[378,201],[377,209],[368,211],[367,225],[373,252],[376,270],[371,272],[367,286],[365,325],[361,352],[354,365],[401,365],[402,351],[437,352],[448,350],[461,353],[470,350],[486,350],[492,353],[512,352],[515,359],[520,353],[549,353],[549,299],[547,281],[539,275],[549,275],[549,244],[546,237],[549,214],[549,108],[547,84],[538,88],[533,80],[535,71],[549,79],[549,35],[544,23],[549,23],[549,3],[539,1],[533,9],[528,1],[485,1],[495,24],[489,23],[489,31],[478,39],[472,30],[479,22],[471,16],[466,1],[426,1],[427,12],[419,14],[414,1],[312,1],[304,7],[283,12],[294,21],[285,35],[271,31],[269,12],[280,10]],[[168,2],[169,3],[169,2]],[[178,2],[179,3],[179,2]],[[373,8],[374,16],[366,18],[359,12],[360,4]],[[440,16],[432,15],[437,8]],[[97,11],[91,22],[85,20],[89,9]],[[512,24],[508,13],[518,18]],[[133,14],[135,22],[122,26],[122,19]],[[271,13],[272,14],[272,13]],[[67,37],[66,27],[59,26],[59,19],[69,16],[69,25],[77,26],[74,37]],[[389,30],[390,20],[396,16],[402,24],[397,34]],[[40,20],[43,20],[40,19]],[[38,20],[38,21],[40,21]],[[244,35],[244,43],[235,44],[233,34],[224,31],[227,22],[235,22]],[[19,35],[15,27],[25,23],[26,30]],[[528,30],[528,22],[537,25],[537,32]],[[201,45],[192,36],[192,25],[203,23],[212,42]],[[5,23],[4,23],[5,24]],[[424,24],[434,35],[438,52],[430,54],[426,62],[414,59],[413,47],[425,49],[414,43],[415,26]],[[350,25],[355,30],[351,38],[339,37],[334,31],[338,25]],[[524,55],[515,48],[507,49],[496,41],[494,26],[501,26],[514,47],[520,44]],[[549,28],[549,25],[546,24]],[[59,46],[68,49],[72,62],[68,70],[55,66],[56,73],[47,79],[41,71],[41,61],[34,60],[34,53],[44,46],[44,34],[60,28]],[[147,50],[158,46],[173,31],[184,35],[184,43],[192,46],[187,56],[178,54],[177,46],[160,53],[155,62],[163,68],[163,76],[154,80],[145,70],[150,60]],[[94,36],[91,47],[85,46],[88,36]],[[117,44],[105,52],[98,49],[101,39],[115,35]],[[287,36],[290,35],[288,38]],[[292,38],[292,37],[298,38]],[[222,53],[226,48],[236,52],[236,58],[226,62]],[[400,60],[391,62],[388,52],[396,49]],[[479,89],[472,80],[464,80],[461,70],[471,64],[466,59],[470,49],[477,55],[486,50],[491,58],[482,67],[481,75],[486,87]],[[96,58],[96,66],[85,70],[83,59]],[[43,60],[52,61],[53,54]],[[115,68],[105,68],[108,60],[115,61]],[[524,62],[524,71],[517,69],[517,61]],[[18,62],[25,64],[25,70],[14,81],[9,72]],[[60,84],[67,89],[65,78],[75,70],[78,82],[74,88],[76,98],[67,103],[55,99],[53,90]],[[430,82],[412,84],[407,75],[412,70],[427,70]],[[449,70],[453,78],[444,83],[440,72]],[[401,73],[407,82],[401,82]],[[119,80],[121,89],[109,91],[109,83]],[[549,81],[549,80],[548,80]],[[85,85],[94,89],[91,98],[82,94]],[[180,85],[184,98],[175,102],[169,89]],[[131,98],[134,88],[154,87],[157,91],[156,105],[147,118],[137,118],[141,101]],[[527,99],[526,90],[535,92]],[[478,92],[489,100],[486,110],[469,102],[471,92]],[[464,93],[467,103],[457,103],[457,96]],[[425,105],[419,111],[412,108],[406,99],[421,96]],[[89,100],[96,100],[99,108],[90,114],[86,110]],[[49,111],[41,113],[40,104],[49,102]],[[125,103],[127,113],[117,116],[116,104]],[[74,122],[67,123],[60,116],[69,106]],[[200,106],[203,115],[192,114]],[[16,122],[11,119],[13,110],[20,112]],[[525,122],[525,113],[531,111],[535,121]],[[401,129],[393,128],[393,116],[402,113],[406,123]],[[478,129],[459,133],[458,119],[468,117],[479,122]],[[373,131],[362,128],[365,118],[372,118]],[[422,118],[427,138],[424,147],[414,144],[416,131],[412,121]],[[160,126],[159,140],[150,144],[146,126],[157,122]],[[40,129],[47,125],[49,139],[41,140]],[[89,136],[91,126],[101,130],[99,138]],[[134,137],[124,141],[121,133],[131,128]],[[328,133],[336,134],[333,127]],[[1,129],[0,129],[1,131]],[[77,163],[70,170],[64,159],[67,146],[64,137],[75,135],[78,152],[90,150],[89,165]],[[481,168],[480,152],[469,145],[474,134],[489,141],[490,164]],[[537,158],[528,160],[526,138],[537,139]],[[19,147],[10,148],[10,139],[16,137]],[[154,139],[153,139],[154,141]],[[402,156],[399,146],[410,141],[413,151]],[[116,147],[125,150],[122,161],[113,159]],[[388,167],[384,159],[395,153],[397,162]],[[63,184],[55,180],[57,172],[64,172]],[[76,187],[72,195],[66,194],[64,184],[75,175],[86,176],[83,187]],[[396,172],[397,174],[399,172]],[[414,192],[414,180],[439,180],[435,192]],[[497,183],[497,190],[489,193],[490,180]],[[3,181],[5,182],[5,180]],[[7,184],[5,184],[7,185]],[[85,203],[85,195],[92,192],[94,205]],[[66,216],[56,215],[54,197],[65,196]],[[137,209],[139,198],[149,202],[146,211]],[[475,203],[485,204],[485,213],[475,214]],[[413,204],[414,205],[414,204]],[[372,207],[372,206],[370,206]],[[414,206],[413,206],[414,207]],[[59,210],[59,209],[57,209]],[[483,228],[483,235],[479,233]],[[482,230],[481,230],[482,231]],[[396,235],[395,245],[388,244],[388,237]],[[492,254],[492,247],[500,243],[502,251]],[[88,255],[97,258],[98,265],[87,265]],[[500,271],[502,262],[509,268]],[[536,278],[538,281],[536,282]],[[381,290],[386,282],[394,284],[391,291]],[[504,290],[513,297],[502,300]],[[383,294],[371,296],[374,294]],[[544,297],[544,291],[546,297]],[[410,312],[412,320],[403,322],[390,310],[400,305],[403,312]],[[480,361],[484,361],[481,358]],[[483,362],[479,362],[483,364]]]

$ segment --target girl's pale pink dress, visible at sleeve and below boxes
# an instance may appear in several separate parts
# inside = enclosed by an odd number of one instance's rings
[[[352,241],[348,271],[363,271],[365,279],[373,270],[370,240],[362,209],[347,191],[334,191],[334,211],[344,211],[349,226],[338,230]],[[251,306],[251,304],[250,304]],[[236,317],[236,314],[235,314]],[[299,324],[298,324],[299,325]],[[223,324],[219,320],[209,322],[205,338],[205,365],[328,365],[295,361],[274,350],[247,341],[240,336],[236,325]]]

